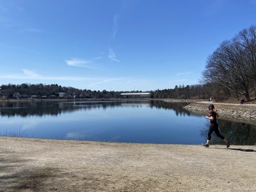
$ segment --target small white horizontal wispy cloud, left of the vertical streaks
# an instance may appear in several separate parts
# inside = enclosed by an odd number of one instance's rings
[[[100,59],[101,57],[93,58],[92,60],[81,60],[81,59],[75,58],[71,60],[66,60],[65,62],[67,63],[68,66],[72,66],[72,67],[85,67],[85,68],[95,69],[97,68],[97,65],[94,62]]]

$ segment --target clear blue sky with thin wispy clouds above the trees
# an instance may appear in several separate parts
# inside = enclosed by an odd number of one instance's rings
[[[198,84],[256,25],[256,0],[0,0],[0,84],[157,90]]]

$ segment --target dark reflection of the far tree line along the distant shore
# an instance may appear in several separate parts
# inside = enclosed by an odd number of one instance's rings
[[[22,102],[0,102],[1,116],[57,116],[61,113],[71,113],[77,110],[107,109],[107,108],[150,108],[168,109],[175,111],[177,116],[190,116],[191,113],[182,109],[186,103],[168,103],[163,101],[137,100],[137,101],[86,101],[86,102],[51,102],[51,101],[22,101]],[[196,116],[196,115],[195,115]]]

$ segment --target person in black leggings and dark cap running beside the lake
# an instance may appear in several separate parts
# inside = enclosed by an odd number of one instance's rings
[[[221,138],[221,140],[225,141],[225,143],[227,143],[227,148],[230,147],[230,142],[227,141],[224,136],[222,136],[220,134],[219,131],[219,125],[217,123],[217,118],[219,117],[218,113],[216,113],[214,111],[214,105],[210,104],[209,105],[209,116],[205,116],[205,118],[208,118],[210,120],[210,127],[209,127],[209,131],[208,131],[208,138],[207,138],[207,142],[205,144],[202,144],[204,147],[209,147],[210,145],[210,141],[211,141],[211,134],[212,132],[215,132],[215,134]]]

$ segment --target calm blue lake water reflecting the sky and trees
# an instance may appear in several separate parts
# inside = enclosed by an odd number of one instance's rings
[[[209,120],[161,101],[0,102],[0,135],[60,140],[200,144]],[[256,126],[218,120],[236,145],[255,145]],[[212,134],[212,143],[223,144]]]

